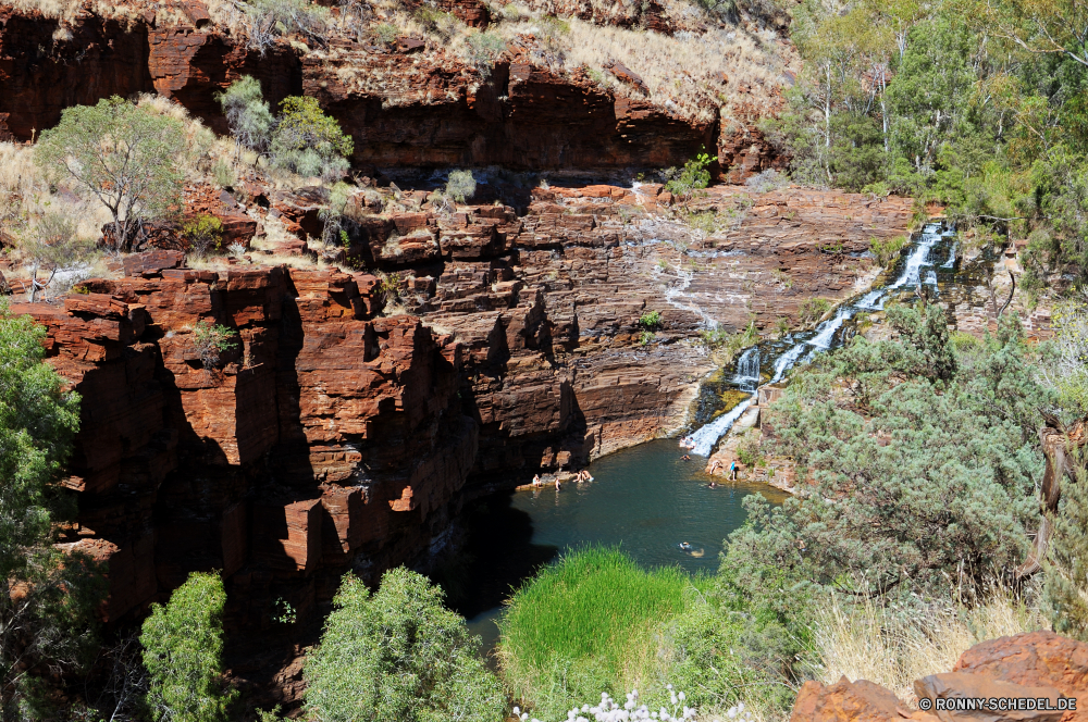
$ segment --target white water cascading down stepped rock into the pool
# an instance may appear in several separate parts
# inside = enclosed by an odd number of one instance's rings
[[[929,261],[930,251],[932,251],[934,246],[936,246],[941,238],[945,237],[949,237],[948,232],[941,233],[941,227],[939,225],[930,224],[925,226],[922,229],[922,233],[918,234],[915,246],[911,250],[910,256],[906,258],[903,271],[895,277],[895,281],[881,288],[874,288],[869,290],[856,301],[848,301],[843,303],[839,307],[839,310],[836,311],[833,318],[828,319],[816,326],[815,332],[809,332],[811,335],[808,335],[807,338],[793,337],[789,348],[782,351],[782,353],[775,360],[775,374],[771,377],[770,383],[781,381],[790,369],[803,359],[808,358],[812,353],[827,351],[841,344],[841,339],[837,341],[836,335],[842,328],[843,324],[854,318],[854,315],[860,311],[880,310],[883,308],[883,302],[887,300],[887,295],[890,291],[901,288],[910,289],[918,286],[919,283],[923,282],[923,267],[932,266],[932,263]],[[951,262],[954,263],[954,261],[955,249],[953,248]],[[951,266],[945,264],[942,267]],[[931,267],[928,269],[924,278],[925,284],[931,285],[935,289],[937,288],[937,273]],[[747,349],[737,360],[737,371],[734,373],[733,381],[737,384],[738,389],[749,391],[751,396],[733,407],[728,413],[718,416],[693,433],[691,435],[691,439],[694,441],[695,446],[691,449],[692,453],[697,453],[702,457],[709,456],[714,450],[714,446],[718,443],[718,439],[725,436],[726,433],[732,428],[737,420],[741,418],[750,406],[752,406],[752,402],[755,400],[756,388],[759,384],[759,360],[761,354],[757,347]]]

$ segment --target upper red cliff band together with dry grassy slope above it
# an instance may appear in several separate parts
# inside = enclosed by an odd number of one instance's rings
[[[17,3],[0,112],[27,139],[65,107],[154,90],[225,133],[214,94],[249,74],[273,107],[317,97],[361,169],[662,167],[705,149],[742,180],[777,162],[755,124],[798,71],[780,14],[623,8]]]

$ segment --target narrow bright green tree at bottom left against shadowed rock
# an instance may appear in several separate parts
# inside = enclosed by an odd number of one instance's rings
[[[157,722],[226,720],[234,698],[224,688],[223,607],[217,573],[194,572],[165,605],[151,605],[140,644],[149,676],[148,706]]]

